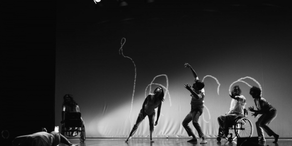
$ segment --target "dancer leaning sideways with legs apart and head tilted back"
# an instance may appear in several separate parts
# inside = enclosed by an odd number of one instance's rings
[[[149,126],[150,126],[150,142],[154,143],[152,140],[152,133],[154,130],[154,120],[155,120],[155,109],[158,108],[157,113],[157,120],[155,122],[155,126],[158,124],[158,119],[160,116],[160,109],[162,102],[164,101],[164,91],[162,87],[158,87],[153,91],[153,94],[149,94],[142,105],[142,109],[139,112],[136,124],[134,125],[133,129],[131,130],[128,138],[125,140],[125,142],[128,142],[129,139],[132,138],[132,135],[136,132],[138,126],[142,123],[142,121],[145,119],[146,115],[149,119]]]

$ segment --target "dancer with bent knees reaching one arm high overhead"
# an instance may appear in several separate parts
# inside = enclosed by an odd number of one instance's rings
[[[183,120],[183,128],[186,130],[188,136],[192,136],[193,139],[187,141],[187,142],[197,142],[197,138],[195,134],[193,133],[192,129],[189,127],[188,123],[192,121],[194,127],[199,133],[199,137],[202,138],[202,141],[200,144],[207,144],[207,140],[202,132],[202,129],[198,123],[199,117],[201,116],[204,108],[204,83],[199,80],[199,77],[197,76],[197,73],[193,70],[193,68],[188,64],[185,63],[184,67],[187,67],[191,69],[194,78],[195,83],[193,84],[193,90],[191,89],[191,85],[188,85],[187,83],[184,84],[184,87],[191,92],[191,111],[186,115],[186,117]]]

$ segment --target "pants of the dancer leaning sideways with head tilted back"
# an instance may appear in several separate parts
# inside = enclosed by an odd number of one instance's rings
[[[148,119],[149,119],[149,126],[150,126],[150,139],[152,140],[152,133],[154,131],[155,112],[153,112],[152,114],[147,115],[147,116],[148,116]],[[142,110],[140,110],[138,118],[137,118],[137,121],[134,124],[134,127],[132,128],[129,136],[132,136],[132,135],[135,134],[135,132],[137,131],[137,128],[142,123],[142,121],[144,120],[145,117],[146,117],[146,115],[143,115]]]

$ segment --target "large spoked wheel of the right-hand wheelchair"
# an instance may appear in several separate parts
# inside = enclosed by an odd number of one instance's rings
[[[253,135],[252,122],[246,117],[239,118],[235,122],[234,131],[238,138],[251,137]]]

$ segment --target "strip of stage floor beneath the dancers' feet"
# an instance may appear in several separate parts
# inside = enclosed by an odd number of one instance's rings
[[[230,143],[225,139],[218,142],[215,138],[207,138],[207,144],[200,144],[201,139],[195,143],[186,142],[190,138],[154,138],[154,143],[150,143],[149,138],[132,138],[127,143],[125,143],[125,139],[86,139],[84,143],[80,142],[79,139],[69,139],[69,141],[78,146],[237,146],[237,139]],[[292,139],[279,139],[276,144],[272,143],[273,141],[274,139],[266,139],[265,143],[258,144],[263,146],[292,146]],[[59,146],[66,145],[60,144]]]

